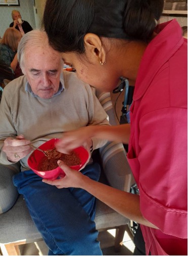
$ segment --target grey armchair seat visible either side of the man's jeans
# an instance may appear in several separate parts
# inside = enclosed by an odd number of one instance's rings
[[[128,219],[119,215],[101,201],[97,202],[96,228],[105,229],[128,223]],[[10,243],[26,239],[27,242],[41,238],[37,231],[23,196],[20,195],[15,205],[4,214],[0,215],[0,243]]]

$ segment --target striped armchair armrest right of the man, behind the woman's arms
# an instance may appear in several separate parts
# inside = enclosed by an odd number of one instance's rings
[[[96,96],[109,116],[111,125],[117,125],[110,93],[96,90]],[[122,143],[108,142],[99,149],[105,176],[110,186],[130,192],[132,172]]]

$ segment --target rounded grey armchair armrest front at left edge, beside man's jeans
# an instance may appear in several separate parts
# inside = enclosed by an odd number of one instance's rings
[[[19,163],[0,164],[0,214],[8,211],[18,198],[17,188],[13,184],[13,176],[19,172]]]

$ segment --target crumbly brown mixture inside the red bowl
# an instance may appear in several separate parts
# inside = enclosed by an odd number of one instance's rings
[[[70,154],[67,155],[58,152],[54,148],[45,150],[45,153],[48,155],[48,157],[44,156],[38,164],[38,170],[40,172],[56,169],[58,167],[58,160],[64,161],[69,166],[78,165],[81,163],[79,156],[74,151],[71,151]]]

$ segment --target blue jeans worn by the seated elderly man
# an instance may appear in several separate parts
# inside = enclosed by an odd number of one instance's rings
[[[82,174],[99,180],[100,165],[87,165]],[[96,199],[83,189],[58,189],[26,170],[13,177],[30,215],[50,251],[49,255],[102,255],[97,241]]]

